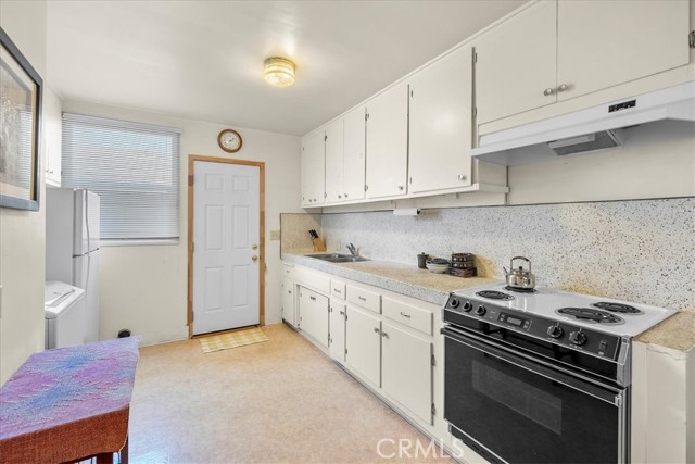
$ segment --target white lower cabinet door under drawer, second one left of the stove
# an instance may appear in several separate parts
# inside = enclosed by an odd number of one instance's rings
[[[348,306],[345,364],[372,385],[381,386],[381,319]]]

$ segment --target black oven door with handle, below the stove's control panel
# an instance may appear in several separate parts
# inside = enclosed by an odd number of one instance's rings
[[[444,418],[491,462],[624,463],[628,390],[475,335],[445,336]]]

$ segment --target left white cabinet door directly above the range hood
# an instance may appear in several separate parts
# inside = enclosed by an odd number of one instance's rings
[[[542,2],[476,42],[478,124],[555,103],[556,14]]]

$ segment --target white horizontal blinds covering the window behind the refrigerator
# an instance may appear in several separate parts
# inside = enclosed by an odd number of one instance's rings
[[[177,129],[64,113],[62,170],[101,197],[102,240],[178,239]]]

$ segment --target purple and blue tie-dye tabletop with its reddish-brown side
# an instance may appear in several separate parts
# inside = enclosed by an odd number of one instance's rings
[[[33,354],[0,388],[0,463],[61,463],[123,448],[136,337]]]

